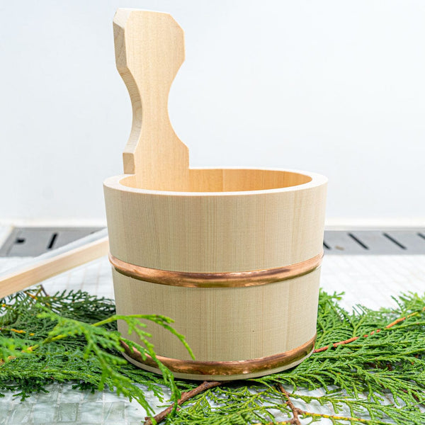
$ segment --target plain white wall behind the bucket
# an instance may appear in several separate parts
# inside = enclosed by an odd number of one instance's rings
[[[425,222],[422,0],[1,1],[0,220],[103,220],[131,123],[120,6],[185,30],[169,108],[191,165],[317,171],[330,222]]]

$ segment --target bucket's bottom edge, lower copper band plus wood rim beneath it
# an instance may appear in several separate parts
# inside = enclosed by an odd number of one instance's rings
[[[240,380],[258,378],[259,376],[271,375],[272,373],[293,368],[312,355],[315,341],[316,336],[314,335],[310,341],[290,351],[253,360],[191,361],[162,356],[157,356],[157,358],[171,370],[175,378],[219,381]],[[157,368],[157,363],[152,358],[148,357],[144,361],[135,348],[130,350],[125,344],[123,346],[125,348],[123,356],[130,363],[149,372],[161,374],[161,371]]]

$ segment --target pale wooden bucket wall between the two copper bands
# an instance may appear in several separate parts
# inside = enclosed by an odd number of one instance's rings
[[[164,314],[198,361],[239,361],[289,351],[316,333],[319,274],[249,288],[181,288],[113,271],[118,314]],[[120,331],[126,331],[120,324]],[[175,336],[148,324],[157,354],[190,360]],[[130,336],[131,338],[132,336]]]

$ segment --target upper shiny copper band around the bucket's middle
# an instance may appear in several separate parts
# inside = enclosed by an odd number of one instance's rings
[[[278,268],[225,273],[188,273],[135,266],[135,264],[126,263],[117,259],[111,252],[109,253],[109,261],[111,261],[113,268],[125,276],[145,282],[160,283],[161,285],[191,288],[233,288],[280,282],[310,273],[320,266],[322,258],[323,251],[312,259]]]

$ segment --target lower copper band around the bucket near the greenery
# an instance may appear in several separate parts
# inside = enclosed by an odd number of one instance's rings
[[[157,356],[157,359],[164,364],[171,372],[188,373],[196,375],[244,375],[246,373],[258,373],[266,370],[282,368],[290,365],[302,358],[309,356],[314,348],[316,335],[310,341],[302,346],[293,348],[285,353],[275,354],[273,356],[254,358],[252,360],[239,361],[193,361],[179,360],[177,358],[169,358]],[[158,368],[157,363],[150,356],[143,358],[139,351],[130,348],[125,342],[120,341],[125,349],[125,353],[133,360],[152,368]]]

